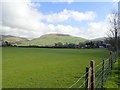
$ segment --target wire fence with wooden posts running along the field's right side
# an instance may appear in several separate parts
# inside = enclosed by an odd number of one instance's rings
[[[76,82],[74,82],[69,88],[104,88],[104,84],[113,69],[116,62],[116,52],[110,52],[109,58],[103,60],[96,66],[92,60],[89,67],[86,67],[86,73],[84,73]],[[77,84],[77,87],[75,87]]]

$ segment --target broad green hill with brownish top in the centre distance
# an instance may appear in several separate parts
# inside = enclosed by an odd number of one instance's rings
[[[39,45],[39,46],[51,46],[55,43],[61,42],[63,44],[66,43],[75,43],[78,44],[79,42],[84,42],[87,39],[81,38],[81,37],[74,37],[67,34],[46,34],[39,38],[35,38],[31,41],[22,43],[21,45]]]

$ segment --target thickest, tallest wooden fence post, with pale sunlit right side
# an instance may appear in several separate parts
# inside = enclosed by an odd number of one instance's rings
[[[90,61],[90,67],[91,67],[91,79],[90,79],[90,87],[91,90],[95,90],[95,61]]]

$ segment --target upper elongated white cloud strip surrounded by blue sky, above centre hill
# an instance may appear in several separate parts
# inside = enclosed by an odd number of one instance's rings
[[[88,11],[85,13],[72,11],[64,9],[60,13],[54,13],[50,15],[44,16],[47,22],[63,22],[67,21],[68,19],[74,19],[76,21],[84,21],[84,20],[94,20],[96,17],[96,13],[92,11]]]

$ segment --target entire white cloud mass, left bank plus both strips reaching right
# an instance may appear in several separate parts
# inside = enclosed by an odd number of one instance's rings
[[[20,1],[20,0],[19,0]],[[64,9],[59,13],[44,15],[37,9],[28,5],[30,2],[4,2],[2,3],[2,24],[0,25],[0,32],[7,35],[24,36],[29,38],[40,37],[47,33],[64,33],[73,36],[95,38],[104,36],[106,31],[106,23],[91,22],[88,27],[73,27],[70,25],[54,25],[47,22],[64,22],[68,19],[76,21],[93,20],[96,17],[95,12],[78,12]]]

